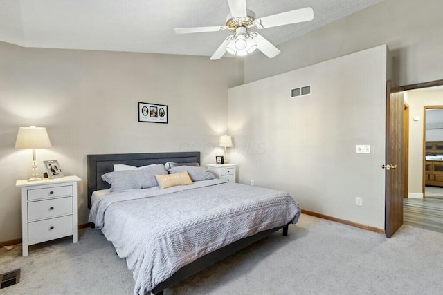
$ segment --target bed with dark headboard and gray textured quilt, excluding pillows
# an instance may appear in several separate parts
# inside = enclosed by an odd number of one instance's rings
[[[87,162],[90,221],[113,242],[118,256],[126,258],[136,281],[134,294],[163,294],[279,229],[286,236],[289,223],[300,216],[298,204],[287,193],[225,180],[112,193],[102,180],[114,171],[114,164],[200,163],[199,152],[87,155]],[[201,167],[192,169],[197,168]],[[195,178],[192,171],[187,173]]]

